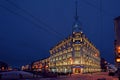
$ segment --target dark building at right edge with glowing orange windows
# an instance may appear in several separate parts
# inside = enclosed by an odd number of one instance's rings
[[[115,24],[115,64],[116,67],[120,67],[120,16],[114,19]]]

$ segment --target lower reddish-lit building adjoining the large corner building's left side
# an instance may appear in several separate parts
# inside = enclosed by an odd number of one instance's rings
[[[32,63],[32,70],[39,72],[49,71],[49,58],[41,59]]]

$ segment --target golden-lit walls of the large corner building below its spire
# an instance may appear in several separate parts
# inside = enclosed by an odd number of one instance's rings
[[[50,71],[87,73],[100,71],[100,52],[81,32],[50,50]]]

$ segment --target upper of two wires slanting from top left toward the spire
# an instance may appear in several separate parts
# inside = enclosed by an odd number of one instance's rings
[[[21,8],[20,6],[16,5],[14,2],[10,1],[10,0],[5,0],[7,1],[9,4],[15,6],[16,8],[22,10],[24,13],[28,14],[29,16],[31,16],[31,18],[33,18],[34,20],[36,20],[37,22],[40,22],[42,25],[46,26],[50,31],[52,31],[52,33],[58,34],[61,38],[63,38],[63,34],[57,32],[56,30],[54,30],[51,26],[45,24],[43,21],[41,21],[40,19],[36,18],[34,15],[32,15],[30,12],[28,12],[27,10]],[[45,29],[47,29],[45,28]]]

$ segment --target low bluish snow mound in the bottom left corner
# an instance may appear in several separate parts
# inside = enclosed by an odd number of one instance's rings
[[[33,74],[24,71],[10,71],[0,73],[0,79],[20,79],[20,78],[33,78]]]

